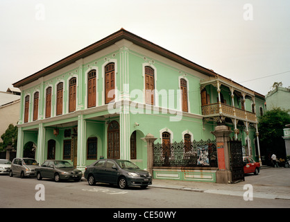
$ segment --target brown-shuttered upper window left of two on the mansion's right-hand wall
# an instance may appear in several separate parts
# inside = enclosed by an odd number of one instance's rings
[[[154,70],[151,67],[145,67],[145,103],[154,105]]]

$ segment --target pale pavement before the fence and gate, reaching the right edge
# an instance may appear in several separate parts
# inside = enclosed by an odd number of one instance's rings
[[[249,173],[245,181],[231,184],[153,179],[150,187],[228,196],[244,196],[246,191],[253,189],[253,198],[290,200],[290,169],[264,167],[259,175]]]

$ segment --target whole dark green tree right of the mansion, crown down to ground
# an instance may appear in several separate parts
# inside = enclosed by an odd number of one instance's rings
[[[273,108],[268,110],[259,118],[259,139],[261,142],[261,153],[269,158],[273,153],[278,158],[285,158],[285,143],[283,136],[283,128],[290,123],[289,110],[282,108]],[[269,161],[269,160],[268,160]]]

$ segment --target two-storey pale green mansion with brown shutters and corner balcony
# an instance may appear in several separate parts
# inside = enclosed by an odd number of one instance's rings
[[[257,117],[263,95],[123,28],[17,83],[17,157],[33,143],[37,162],[85,167],[100,158],[147,168],[155,143],[215,139],[223,121],[259,160]]]

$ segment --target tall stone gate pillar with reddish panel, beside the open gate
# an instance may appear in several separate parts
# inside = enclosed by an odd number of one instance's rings
[[[230,171],[230,151],[228,147],[229,135],[232,130],[228,126],[218,125],[211,132],[216,137],[216,153],[218,159],[218,170],[216,171],[216,182],[228,184],[232,182]]]

